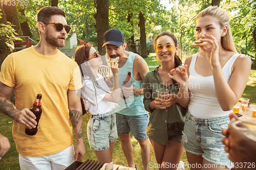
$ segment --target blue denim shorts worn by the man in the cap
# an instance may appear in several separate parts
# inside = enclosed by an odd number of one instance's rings
[[[150,115],[126,116],[116,113],[116,126],[118,135],[129,134],[132,131],[136,140],[146,140],[146,128],[150,122]]]

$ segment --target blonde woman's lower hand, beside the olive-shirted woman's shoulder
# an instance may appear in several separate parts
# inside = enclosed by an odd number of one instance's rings
[[[177,68],[174,68],[170,70],[170,73],[167,74],[167,76],[170,79],[175,80],[180,85],[185,85],[187,83],[188,77],[187,77],[187,64],[183,66],[179,66]]]

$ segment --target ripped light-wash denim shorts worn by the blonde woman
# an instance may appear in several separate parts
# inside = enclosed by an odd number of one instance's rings
[[[182,144],[186,152],[202,155],[213,164],[231,168],[233,163],[227,158],[221,142],[222,129],[227,129],[230,120],[228,116],[218,118],[197,118],[187,111],[182,135]]]

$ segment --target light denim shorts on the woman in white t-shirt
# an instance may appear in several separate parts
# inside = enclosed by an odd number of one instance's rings
[[[118,138],[114,110],[104,114],[91,115],[87,124],[87,137],[92,150],[109,149],[110,143]]]

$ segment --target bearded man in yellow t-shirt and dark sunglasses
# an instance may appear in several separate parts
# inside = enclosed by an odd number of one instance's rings
[[[86,151],[82,135],[81,87],[77,64],[57,47],[63,47],[70,27],[66,14],[57,7],[44,7],[37,13],[40,41],[36,46],[12,53],[0,73],[0,110],[14,119],[13,139],[19,153],[20,169],[65,169],[81,161]],[[10,101],[15,91],[15,108]],[[42,94],[42,115],[37,134],[35,115],[29,110],[36,95]],[[77,144],[74,151],[73,129]]]

